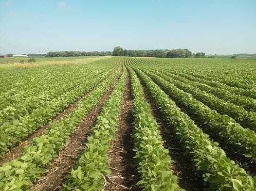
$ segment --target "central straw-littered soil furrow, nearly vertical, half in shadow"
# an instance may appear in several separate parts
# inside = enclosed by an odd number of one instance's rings
[[[123,103],[119,116],[119,129],[116,132],[109,152],[109,164],[112,173],[106,176],[107,184],[105,191],[138,191],[138,173],[136,162],[133,159],[135,153],[132,151],[132,97],[130,92],[130,79],[127,78],[123,93]]]

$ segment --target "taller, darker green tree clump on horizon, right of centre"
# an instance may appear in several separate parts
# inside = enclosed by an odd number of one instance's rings
[[[133,56],[133,57],[158,57],[158,58],[202,58],[204,52],[192,53],[189,49],[156,49],[156,50],[127,50],[121,47],[115,47],[113,56]]]

